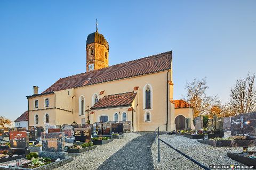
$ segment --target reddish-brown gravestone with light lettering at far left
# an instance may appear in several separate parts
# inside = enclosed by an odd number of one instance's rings
[[[12,131],[9,140],[11,148],[25,149],[29,146],[28,132]]]

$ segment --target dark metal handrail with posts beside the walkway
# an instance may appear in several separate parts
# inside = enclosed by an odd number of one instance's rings
[[[156,133],[156,130],[158,129],[158,134]],[[162,141],[163,143],[165,143],[165,145],[171,147],[173,150],[177,151],[179,154],[185,156],[186,158],[188,158],[189,160],[191,160],[193,163],[195,163],[196,165],[206,169],[206,170],[211,170],[210,168],[204,166],[203,164],[197,162],[195,159],[191,158],[190,156],[184,154],[183,152],[181,152],[180,150],[172,147],[169,143],[166,143],[164,140],[160,139],[159,138],[159,127],[155,129],[155,143],[156,143],[156,136],[157,136],[157,139],[158,139],[158,163],[160,162],[160,142],[159,141]]]

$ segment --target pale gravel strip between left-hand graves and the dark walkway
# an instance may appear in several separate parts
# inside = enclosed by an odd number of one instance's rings
[[[115,154],[119,149],[126,145],[126,143],[139,137],[137,133],[126,133],[122,139],[115,139],[114,141],[97,148],[83,152],[81,156],[74,157],[74,160],[59,168],[59,170],[67,169],[97,169],[105,160],[111,155]]]

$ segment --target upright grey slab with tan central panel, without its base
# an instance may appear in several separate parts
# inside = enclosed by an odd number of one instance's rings
[[[63,132],[42,133],[42,151],[63,152],[65,134]]]

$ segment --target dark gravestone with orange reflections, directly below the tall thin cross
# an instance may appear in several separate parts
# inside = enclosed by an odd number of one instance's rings
[[[75,141],[89,142],[92,138],[91,128],[75,128]]]

